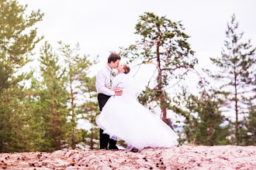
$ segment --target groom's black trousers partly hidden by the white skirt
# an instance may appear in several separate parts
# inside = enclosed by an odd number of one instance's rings
[[[102,108],[105,106],[106,102],[109,100],[110,96],[106,94],[99,93],[98,94],[98,101],[99,101],[99,110],[102,111]],[[99,130],[99,148],[108,148],[109,149],[116,149],[116,141],[109,139],[109,134],[103,134],[103,130]]]

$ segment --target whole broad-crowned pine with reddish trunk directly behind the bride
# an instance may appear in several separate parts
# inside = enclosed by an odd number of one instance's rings
[[[191,69],[197,59],[189,46],[187,36],[181,22],[172,22],[165,16],[157,16],[154,13],[145,12],[135,27],[135,34],[141,39],[126,49],[121,49],[121,55],[130,59],[130,62],[151,64],[157,70],[157,84],[153,89],[149,87],[140,96],[140,102],[147,105],[151,101],[157,102],[161,107],[162,120],[166,120],[166,112],[170,99],[166,89],[170,81],[175,80],[179,70],[183,76]],[[150,83],[150,82],[149,82]]]

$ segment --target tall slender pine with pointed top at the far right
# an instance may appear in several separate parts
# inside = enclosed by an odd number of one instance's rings
[[[235,141],[240,145],[240,124],[238,117],[242,114],[248,114],[246,104],[247,97],[255,97],[255,47],[251,46],[251,41],[243,42],[243,33],[237,33],[238,22],[236,17],[231,17],[231,22],[227,24],[227,40],[225,40],[222,56],[220,58],[211,58],[213,64],[218,66],[220,71],[212,74],[216,80],[221,80],[223,86],[218,93],[226,98],[225,107],[230,108],[230,113],[234,113],[235,121]],[[234,109],[234,112],[233,112]]]

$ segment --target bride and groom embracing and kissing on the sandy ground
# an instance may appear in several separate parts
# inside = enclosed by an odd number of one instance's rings
[[[126,151],[144,148],[170,148],[178,145],[178,135],[137,101],[137,87],[130,67],[119,64],[121,57],[111,53],[108,63],[96,76],[100,128],[100,149],[118,149],[116,141],[126,141]],[[109,148],[108,148],[109,145]]]

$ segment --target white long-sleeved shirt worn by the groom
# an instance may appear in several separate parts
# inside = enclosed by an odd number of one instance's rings
[[[116,72],[116,70],[114,71]],[[105,66],[102,67],[101,70],[99,70],[99,73],[96,76],[96,82],[95,82],[97,93],[104,93],[108,96],[115,95],[114,91],[109,90],[109,88],[107,88],[109,87],[109,84],[110,84],[110,73],[111,73],[111,68],[109,67],[108,64],[106,64]]]

